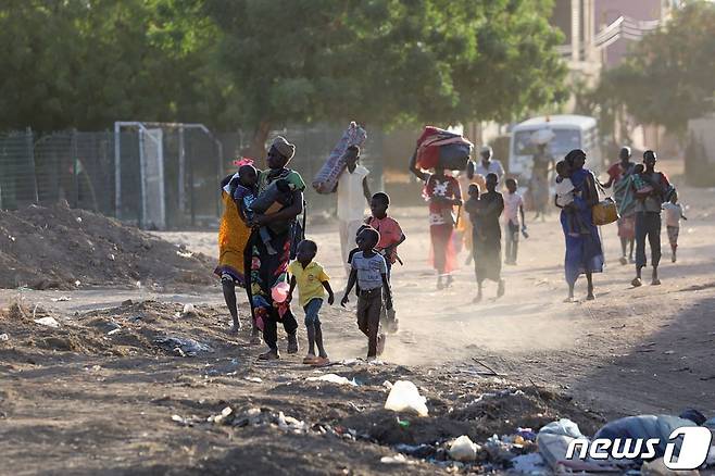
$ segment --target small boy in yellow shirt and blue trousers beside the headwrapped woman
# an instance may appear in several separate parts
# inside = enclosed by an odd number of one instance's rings
[[[315,241],[303,240],[298,243],[296,261],[288,265],[288,273],[290,273],[288,300],[292,299],[293,290],[298,286],[300,305],[305,311],[305,330],[308,334],[308,355],[303,359],[303,363],[326,365],[330,361],[323,347],[323,331],[321,330],[318,312],[323,306],[325,291],[328,291],[328,304],[330,305],[335,301],[335,295],[330,289],[330,278],[325,274],[323,266],[313,261],[316,254],[317,245]],[[317,356],[315,355],[315,346],[317,346]]]

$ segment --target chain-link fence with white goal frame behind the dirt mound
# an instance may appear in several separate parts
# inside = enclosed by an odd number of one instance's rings
[[[0,134],[0,209],[66,200],[143,228],[213,225],[221,214],[218,183],[236,167],[248,136],[212,134],[197,124],[117,123],[114,131],[32,130]],[[331,213],[335,195],[310,184],[343,130],[289,128],[296,143],[291,167],[308,184],[310,213]],[[382,187],[384,136],[373,133],[362,162],[372,190]],[[263,165],[263,159],[259,166]]]

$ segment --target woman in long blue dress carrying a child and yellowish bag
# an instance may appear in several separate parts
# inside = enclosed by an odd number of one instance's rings
[[[561,211],[561,227],[566,239],[566,258],[564,271],[568,284],[567,301],[574,300],[574,287],[578,276],[586,274],[588,295],[586,299],[595,299],[593,296],[593,273],[603,271],[603,250],[599,230],[593,225],[591,206],[599,202],[593,174],[584,168],[586,152],[574,149],[564,159],[569,171],[569,179],[574,186],[574,199]],[[572,213],[576,214],[578,224],[585,227],[586,233],[575,233]]]

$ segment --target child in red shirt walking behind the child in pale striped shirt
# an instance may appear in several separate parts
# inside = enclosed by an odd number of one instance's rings
[[[398,256],[398,247],[406,239],[402,228],[397,220],[387,216],[387,209],[390,206],[390,197],[381,191],[373,196],[369,202],[369,210],[373,213],[365,220],[365,224],[375,228],[380,234],[380,239],[375,247],[375,251],[385,258],[387,264],[387,278],[391,280],[392,265],[400,260]],[[388,331],[394,333],[398,329],[398,320],[394,317],[394,309],[387,310],[382,306],[382,326]]]

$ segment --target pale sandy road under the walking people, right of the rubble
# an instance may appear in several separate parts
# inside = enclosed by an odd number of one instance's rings
[[[512,379],[557,385],[611,414],[678,412],[699,406],[715,412],[715,191],[682,188],[689,221],[682,222],[678,263],[672,264],[663,230],[663,285],[630,288],[634,266],[622,266],[615,225],[602,228],[605,273],[595,276],[594,302],[564,303],[563,235],[553,213],[547,222],[528,223],[517,266],[505,266],[503,299],[473,304],[472,266],[462,265],[454,285],[435,288],[427,262],[428,234],[424,209],[394,208],[407,241],[400,254],[405,266],[393,268],[393,292],[400,333],[388,340],[385,359],[412,365],[460,362],[477,358]],[[189,248],[215,254],[214,234],[163,234]],[[318,260],[341,288],[336,227],[309,230],[318,242]],[[466,252],[461,254],[461,261]],[[650,268],[644,270],[648,277]],[[584,297],[585,279],[577,284]],[[353,303],[354,304],[354,303]],[[302,312],[299,310],[299,320]],[[344,326],[348,312],[334,306],[326,327],[333,356],[363,351],[361,335]],[[339,341],[339,346],[336,341]]]

